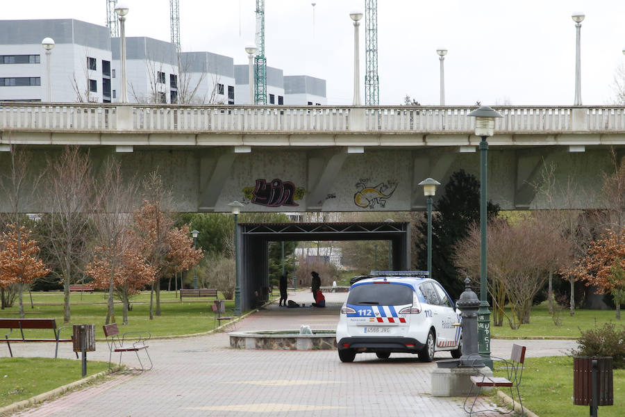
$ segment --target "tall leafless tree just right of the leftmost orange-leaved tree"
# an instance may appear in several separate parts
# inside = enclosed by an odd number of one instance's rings
[[[91,237],[89,213],[94,202],[94,182],[89,154],[65,147],[47,163],[46,197],[50,215],[42,216],[51,234],[48,245],[63,273],[63,322],[70,319],[69,284],[82,276]]]

